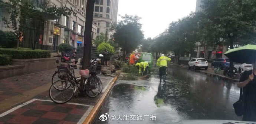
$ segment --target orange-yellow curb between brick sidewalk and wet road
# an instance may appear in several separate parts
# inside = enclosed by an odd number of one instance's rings
[[[118,76],[115,76],[114,79],[109,83],[108,88],[104,92],[104,94],[101,96],[101,98],[98,100],[96,105],[92,108],[92,111],[89,113],[89,115],[86,117],[85,121],[83,121],[83,124],[92,124],[95,117],[98,115],[99,111],[101,110],[102,105],[104,104],[104,101],[108,97],[108,94],[112,90],[112,87],[114,86]]]

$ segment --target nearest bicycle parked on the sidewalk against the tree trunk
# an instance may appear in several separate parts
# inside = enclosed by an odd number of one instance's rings
[[[75,77],[74,68],[76,65],[69,65],[68,67],[57,66],[58,77],[61,78],[54,82],[49,89],[50,99],[59,104],[66,103],[72,99],[77,90],[85,92],[89,97],[96,97],[102,91],[102,84],[96,73],[88,74],[88,77],[81,79]]]

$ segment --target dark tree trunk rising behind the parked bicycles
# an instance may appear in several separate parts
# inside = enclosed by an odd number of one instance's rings
[[[92,19],[95,0],[88,0],[86,4],[85,32],[84,32],[84,47],[83,47],[83,65],[82,69],[89,69],[91,65],[91,50],[92,50]]]

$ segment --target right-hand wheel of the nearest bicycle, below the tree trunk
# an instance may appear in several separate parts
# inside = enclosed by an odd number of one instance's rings
[[[88,78],[86,85],[85,85],[85,93],[93,98],[96,97],[100,92],[100,83],[97,77],[91,76]]]

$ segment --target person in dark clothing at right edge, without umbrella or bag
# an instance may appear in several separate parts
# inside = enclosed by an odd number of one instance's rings
[[[256,121],[256,61],[253,65],[253,70],[242,73],[237,84],[238,87],[243,87],[243,121]]]

